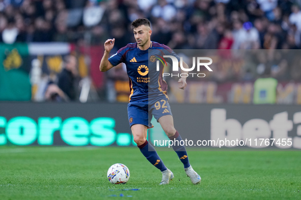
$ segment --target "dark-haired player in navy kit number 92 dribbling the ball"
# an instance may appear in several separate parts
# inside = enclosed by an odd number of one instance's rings
[[[166,168],[154,147],[147,141],[147,129],[152,127],[150,123],[152,116],[160,123],[170,140],[180,142],[182,138],[174,127],[174,120],[166,95],[167,84],[162,80],[162,68],[164,66],[161,66],[161,70],[158,72],[151,70],[156,69],[156,62],[154,62],[155,57],[149,55],[148,50],[165,52],[165,54],[176,57],[178,61],[180,58],[168,46],[151,41],[152,30],[148,19],[134,20],[131,23],[131,28],[136,43],[126,45],[108,58],[114,47],[115,39],[106,40],[99,68],[101,72],[106,72],[121,62],[126,64],[130,82],[127,112],[134,142],[146,159],[162,172],[160,185],[169,184],[170,180],[174,178],[173,173]],[[184,62],[183,66],[188,68]],[[180,78],[178,82],[179,88],[185,89],[186,78]],[[179,144],[175,142],[173,149],[184,164],[187,176],[193,184],[200,183],[201,177],[191,167],[185,147]]]

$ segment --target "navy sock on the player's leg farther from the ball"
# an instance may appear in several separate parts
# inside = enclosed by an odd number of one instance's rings
[[[183,141],[181,136],[179,135],[179,132],[176,131],[176,134],[172,137],[169,137],[170,140],[174,142],[172,145],[174,151],[178,154],[180,160],[184,164],[184,168],[188,168],[190,166],[189,160],[188,160],[188,155],[186,152],[186,148],[184,145],[180,145],[180,141]],[[182,142],[184,144],[184,142]]]

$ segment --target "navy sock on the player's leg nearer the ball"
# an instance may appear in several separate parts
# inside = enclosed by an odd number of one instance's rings
[[[138,147],[141,153],[146,157],[146,159],[150,163],[152,163],[156,168],[158,168],[161,172],[167,170],[166,166],[157,154],[156,150],[151,144],[148,143],[147,140],[143,145],[140,145]]]

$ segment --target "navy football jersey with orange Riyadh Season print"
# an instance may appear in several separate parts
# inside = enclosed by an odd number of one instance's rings
[[[180,61],[172,49],[157,42],[151,42],[147,50],[139,49],[137,43],[130,43],[108,59],[114,66],[121,62],[126,64],[130,86],[129,102],[147,101],[149,98],[158,97],[168,99],[167,83],[162,79],[164,65],[159,62],[157,71],[156,64],[159,58],[162,60],[163,55],[172,55]],[[172,59],[165,60],[172,64]]]

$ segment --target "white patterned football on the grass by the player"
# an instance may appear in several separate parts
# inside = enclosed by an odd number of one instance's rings
[[[129,170],[127,166],[116,163],[110,166],[107,171],[107,178],[112,184],[125,184],[129,179]]]

